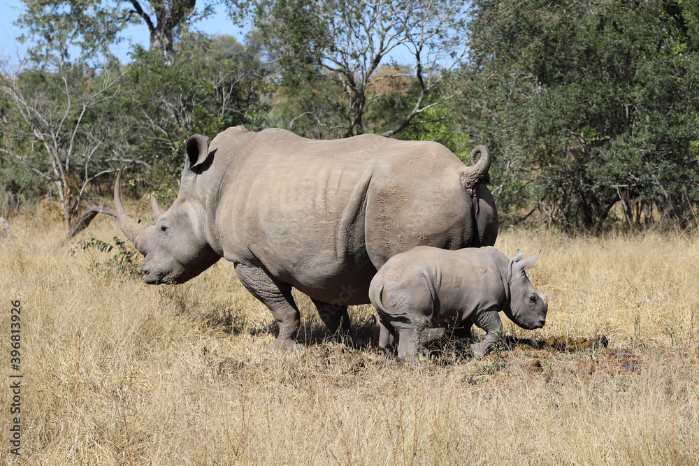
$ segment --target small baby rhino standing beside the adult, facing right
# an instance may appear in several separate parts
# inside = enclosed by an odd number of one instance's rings
[[[379,346],[388,350],[398,340],[398,360],[415,362],[419,346],[447,327],[475,323],[486,332],[471,344],[473,356],[486,354],[503,329],[498,311],[521,328],[542,328],[548,305],[524,272],[540,252],[512,259],[494,247],[447,251],[421,246],[391,257],[377,272],[369,298],[379,314]],[[428,328],[430,327],[430,328]],[[457,330],[458,331],[458,330]]]

